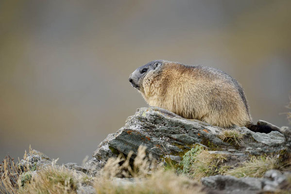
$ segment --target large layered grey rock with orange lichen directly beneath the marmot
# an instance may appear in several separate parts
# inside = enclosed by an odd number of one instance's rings
[[[266,123],[260,121],[260,124]],[[274,126],[274,129],[279,128]],[[247,154],[261,155],[290,150],[288,145],[291,141],[286,136],[289,129],[284,129],[285,134],[279,131],[268,134],[253,132],[245,127],[233,130],[244,135],[240,146],[223,142],[219,138],[223,131],[220,127],[185,119],[158,107],[140,108],[135,115],[127,118],[124,127],[107,136],[85,167],[97,173],[108,158],[117,157],[120,153],[127,155],[130,151],[137,153],[140,145],[146,146],[147,154],[151,154],[154,159],[163,161],[165,157],[170,157],[174,162],[180,162],[181,156],[194,144],[206,146],[210,151],[236,156],[242,161],[247,159]],[[133,154],[132,158],[135,156]]]

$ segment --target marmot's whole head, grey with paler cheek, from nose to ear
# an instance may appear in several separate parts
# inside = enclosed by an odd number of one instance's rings
[[[131,85],[135,87],[141,93],[144,93],[144,84],[151,82],[153,78],[158,75],[161,71],[161,67],[165,61],[157,60],[138,67],[132,74],[129,76],[129,81]]]

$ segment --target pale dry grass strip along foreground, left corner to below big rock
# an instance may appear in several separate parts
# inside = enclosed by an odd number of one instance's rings
[[[103,168],[103,176],[94,178],[89,175],[76,175],[64,166],[51,165],[36,171],[18,173],[13,181],[14,171],[9,171],[7,162],[2,165],[1,181],[6,180],[1,193],[11,194],[76,194],[78,186],[94,185],[97,194],[202,194],[201,187],[186,177],[177,176],[173,171],[165,171],[150,156],[145,147],[139,147],[137,157],[131,161],[120,155],[108,160]],[[5,166],[5,168],[4,168]],[[17,165],[12,163],[12,168]],[[16,171],[18,172],[18,171]],[[9,174],[10,173],[10,174]],[[116,185],[113,177],[135,178],[135,184]]]

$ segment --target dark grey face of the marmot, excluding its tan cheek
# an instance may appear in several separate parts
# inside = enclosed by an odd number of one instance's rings
[[[138,67],[132,74],[129,76],[129,82],[131,85],[135,87],[140,92],[143,92],[143,80],[147,74],[153,73],[153,71],[157,71],[160,69],[163,64],[162,60],[152,61],[147,65],[143,65]]]

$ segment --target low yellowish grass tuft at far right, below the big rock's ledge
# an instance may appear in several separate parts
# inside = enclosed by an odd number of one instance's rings
[[[256,177],[260,178],[272,169],[282,169],[286,166],[280,162],[277,156],[252,156],[249,161],[243,162],[238,168],[227,171],[226,175],[232,175],[237,178]]]

